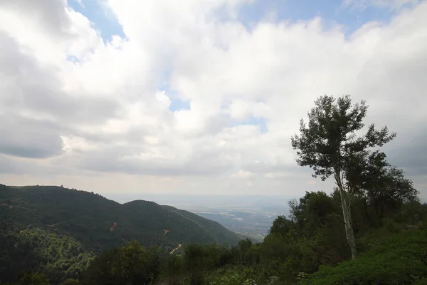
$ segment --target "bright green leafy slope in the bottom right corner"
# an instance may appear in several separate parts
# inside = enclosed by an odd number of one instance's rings
[[[378,239],[355,261],[320,267],[302,284],[411,284],[427,276],[426,249],[426,230],[406,231]]]

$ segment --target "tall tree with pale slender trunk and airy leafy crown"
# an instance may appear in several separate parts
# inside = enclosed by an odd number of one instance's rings
[[[346,175],[354,173],[354,162],[366,155],[369,148],[381,147],[396,136],[389,133],[387,127],[375,130],[374,124],[369,125],[365,135],[358,136],[357,131],[364,127],[362,121],[367,115],[367,108],[364,100],[352,105],[350,95],[338,99],[330,95],[321,96],[315,100],[315,108],[308,113],[308,125],[301,119],[300,135],[291,138],[292,147],[297,150],[298,165],[310,166],[315,172],[312,176],[320,177],[322,181],[334,175],[353,259],[357,256],[351,215],[355,189]]]

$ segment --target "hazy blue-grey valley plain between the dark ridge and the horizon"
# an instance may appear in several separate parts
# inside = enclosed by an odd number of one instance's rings
[[[273,221],[279,215],[288,215],[288,201],[293,197],[273,195],[160,195],[121,194],[108,197],[126,202],[130,199],[149,199],[159,204],[170,204],[180,209],[218,222],[226,229],[262,242]]]

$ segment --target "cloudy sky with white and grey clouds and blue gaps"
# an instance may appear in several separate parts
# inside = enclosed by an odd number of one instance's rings
[[[427,197],[426,74],[426,1],[0,1],[0,182],[331,192],[290,137],[351,94]]]

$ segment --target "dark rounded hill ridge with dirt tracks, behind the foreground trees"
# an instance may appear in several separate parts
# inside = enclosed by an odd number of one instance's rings
[[[56,186],[0,185],[0,222],[40,227],[80,240],[100,252],[137,239],[173,249],[190,242],[237,244],[241,237],[209,219],[154,202],[120,204],[93,192]]]

